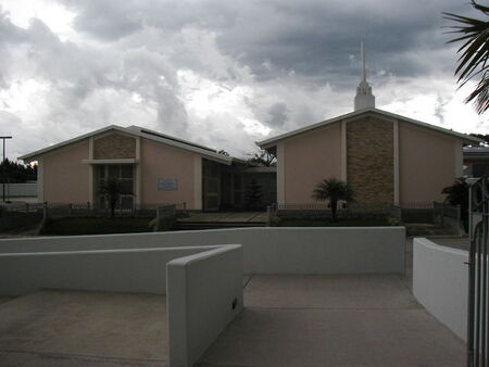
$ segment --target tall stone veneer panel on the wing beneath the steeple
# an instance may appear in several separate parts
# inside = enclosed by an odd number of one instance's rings
[[[393,202],[393,125],[374,117],[347,124],[347,181],[359,203]]]

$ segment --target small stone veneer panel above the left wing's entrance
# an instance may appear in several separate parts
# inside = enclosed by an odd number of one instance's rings
[[[111,134],[93,141],[93,159],[135,159],[136,139],[121,134]]]

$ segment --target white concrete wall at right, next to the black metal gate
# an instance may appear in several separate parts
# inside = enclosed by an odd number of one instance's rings
[[[467,339],[468,252],[413,241],[413,293],[417,301],[457,337]]]

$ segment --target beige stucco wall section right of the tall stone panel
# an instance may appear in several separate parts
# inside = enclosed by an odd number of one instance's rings
[[[455,156],[460,140],[412,124],[399,123],[400,202],[443,201],[441,190],[456,177]],[[459,153],[460,153],[459,152]]]

